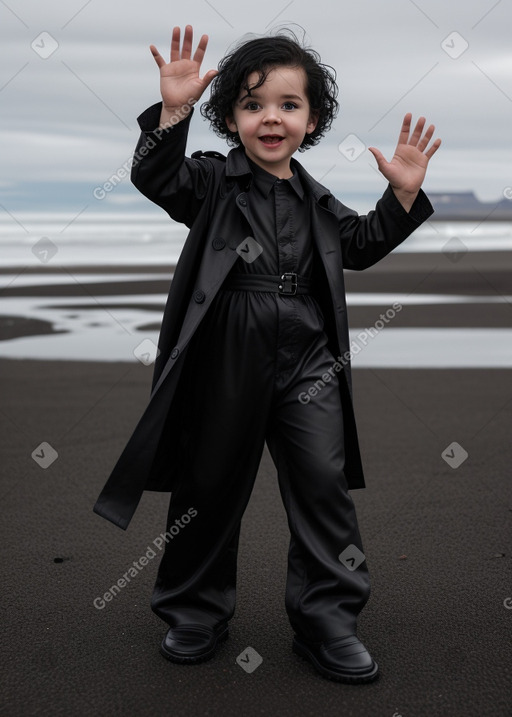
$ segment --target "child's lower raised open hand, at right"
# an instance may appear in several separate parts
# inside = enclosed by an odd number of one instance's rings
[[[425,178],[428,162],[437,152],[441,140],[436,139],[428,151],[428,143],[434,134],[434,125],[431,124],[423,134],[425,117],[420,117],[409,139],[412,114],[408,112],[402,123],[398,137],[398,144],[391,162],[388,162],[382,152],[375,147],[368,147],[377,160],[379,171],[390,183],[397,199],[406,211],[412,207],[420,187]]]

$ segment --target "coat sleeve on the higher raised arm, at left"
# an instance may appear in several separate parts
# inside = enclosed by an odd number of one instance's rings
[[[207,192],[213,168],[208,159],[185,156],[194,110],[161,130],[158,102],[138,118],[141,134],[133,155],[131,180],[137,189],[177,222],[192,226]]]

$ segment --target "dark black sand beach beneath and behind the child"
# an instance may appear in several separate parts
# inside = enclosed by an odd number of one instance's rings
[[[395,254],[362,274],[348,273],[347,289],[503,297],[511,293],[511,264],[509,254],[497,252],[456,260]],[[86,268],[63,271],[79,279]],[[70,278],[68,289],[44,291],[74,300],[109,291],[95,284],[80,294],[77,286]],[[138,295],[167,286],[147,281],[125,290],[136,304]],[[18,290],[13,284],[1,295]],[[24,291],[41,295],[37,287]],[[378,315],[375,305],[353,307],[350,322],[369,326]],[[16,335],[36,330],[23,329],[23,317],[11,318]],[[394,325],[510,328],[511,319],[504,300],[406,307]],[[8,328],[0,326],[0,341]],[[153,541],[164,529],[168,497],[146,493],[126,532],[92,512],[146,405],[151,373],[137,361],[0,360],[1,714],[512,713],[512,371],[353,371],[367,489],[352,497],[373,587],[359,636],[381,668],[377,682],[359,686],[323,679],[291,651],[284,609],[288,528],[266,449],[243,521],[229,640],[200,665],[159,655],[165,625],[149,601],[159,561]],[[53,454],[42,443],[58,454],[48,467],[42,456]],[[468,454],[457,468],[442,457],[460,455],[457,447],[447,452],[452,443]],[[156,555],[142,566],[150,547]],[[141,565],[136,577],[95,607],[134,561]],[[250,674],[236,662],[247,647],[263,658]]]

